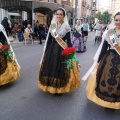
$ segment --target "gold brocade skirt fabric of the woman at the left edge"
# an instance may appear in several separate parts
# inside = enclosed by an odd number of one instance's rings
[[[16,80],[20,76],[19,69],[16,63],[7,61],[7,68],[0,75],[0,86]]]

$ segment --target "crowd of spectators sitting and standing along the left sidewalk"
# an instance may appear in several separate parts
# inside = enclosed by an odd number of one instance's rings
[[[40,24],[39,21],[35,21],[33,27],[28,20],[23,20],[19,23],[16,19],[14,19],[11,23],[7,17],[4,17],[1,24],[4,26],[7,35],[17,37],[19,42],[24,41],[24,33],[28,33],[29,37],[39,40],[39,44],[42,44],[42,40],[46,39],[48,33],[48,26]]]

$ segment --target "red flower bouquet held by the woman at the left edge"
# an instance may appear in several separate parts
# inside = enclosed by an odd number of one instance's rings
[[[9,61],[13,61],[12,52],[10,51],[10,46],[8,44],[2,45],[0,51],[8,57]]]

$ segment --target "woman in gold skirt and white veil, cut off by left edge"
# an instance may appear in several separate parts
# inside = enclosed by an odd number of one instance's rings
[[[20,66],[17,62],[4,27],[0,24],[0,86],[16,80]]]

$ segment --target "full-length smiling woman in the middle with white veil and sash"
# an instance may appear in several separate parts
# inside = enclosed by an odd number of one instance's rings
[[[70,31],[65,10],[58,8],[51,22],[40,63],[38,87],[45,92],[61,94],[80,86],[76,57],[66,59],[61,54],[64,49],[72,47]]]

